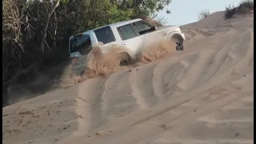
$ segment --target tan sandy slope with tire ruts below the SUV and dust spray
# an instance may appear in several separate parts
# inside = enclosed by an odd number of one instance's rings
[[[253,18],[182,26],[186,50],[3,108],[3,143],[253,143]]]

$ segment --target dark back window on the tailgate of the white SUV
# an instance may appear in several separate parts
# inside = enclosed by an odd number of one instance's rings
[[[91,49],[90,35],[79,34],[70,39],[70,53],[79,52],[81,55],[85,55]]]

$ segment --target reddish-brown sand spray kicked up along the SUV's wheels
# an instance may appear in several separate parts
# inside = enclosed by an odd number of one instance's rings
[[[86,58],[86,70],[78,82],[98,76],[107,77],[118,70],[142,66],[143,64],[154,62],[159,58],[173,54],[175,51],[176,46],[174,42],[161,41],[142,47],[137,57],[132,59],[123,46],[113,45],[106,54],[102,54],[100,47],[95,46]]]

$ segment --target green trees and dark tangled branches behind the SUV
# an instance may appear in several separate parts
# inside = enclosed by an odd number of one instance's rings
[[[156,14],[170,1],[3,0],[3,82],[34,63],[54,65],[68,58],[68,38],[73,34]]]

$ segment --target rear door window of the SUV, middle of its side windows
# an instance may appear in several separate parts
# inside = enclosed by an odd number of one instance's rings
[[[122,38],[122,40],[127,40],[127,39],[134,38],[137,36],[135,34],[133,27],[130,26],[130,24],[118,27],[118,33],[119,33],[120,37]]]

